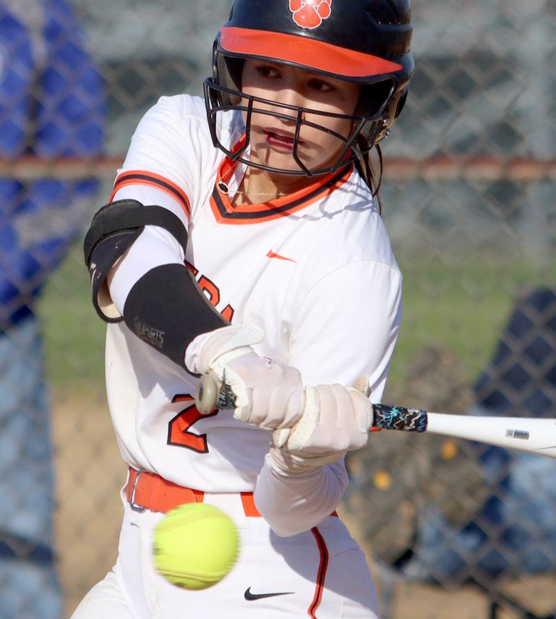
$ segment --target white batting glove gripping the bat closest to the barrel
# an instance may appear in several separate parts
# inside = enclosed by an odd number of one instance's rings
[[[300,470],[336,461],[366,446],[373,405],[352,387],[305,387],[303,416],[290,430],[272,433],[270,455],[282,468]]]

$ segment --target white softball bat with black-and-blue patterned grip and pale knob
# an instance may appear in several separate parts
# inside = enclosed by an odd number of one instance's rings
[[[199,381],[195,402],[199,413],[207,414],[217,408],[234,408],[235,396],[229,385],[208,373]],[[373,404],[369,431],[376,430],[432,432],[556,458],[556,419],[452,415]]]

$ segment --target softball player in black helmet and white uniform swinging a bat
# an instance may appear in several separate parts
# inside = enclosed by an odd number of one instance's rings
[[[85,239],[129,480],[117,563],[74,618],[378,616],[334,510],[368,436],[344,386],[364,375],[379,400],[400,323],[368,153],[402,109],[410,39],[407,0],[236,0],[204,101],[140,122]],[[197,411],[206,371],[234,410]],[[184,591],[154,570],[152,529],[195,500],[234,518],[241,551]]]

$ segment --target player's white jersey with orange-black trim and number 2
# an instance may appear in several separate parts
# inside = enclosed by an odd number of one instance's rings
[[[229,112],[218,131],[233,149],[240,116]],[[164,251],[144,252],[127,284],[125,269],[112,282],[115,305],[121,312],[142,272],[185,262],[224,318],[265,330],[257,353],[295,366],[306,384],[347,385],[365,374],[378,401],[400,325],[402,277],[368,187],[347,167],[270,203],[232,206],[244,172],[213,146],[202,99],[163,98],[147,112],[113,199],[172,210],[188,228],[187,251],[165,239]],[[252,491],[271,433],[231,410],[199,414],[197,379],[123,322],[108,325],[106,383],[127,464],[207,492]]]

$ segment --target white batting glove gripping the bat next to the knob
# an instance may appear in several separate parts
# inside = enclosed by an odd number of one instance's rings
[[[266,430],[293,427],[304,408],[304,391],[297,369],[259,357],[252,344],[264,339],[257,325],[224,327],[204,335],[193,371],[213,371],[236,395],[234,417]],[[188,365],[189,368],[189,365]]]

